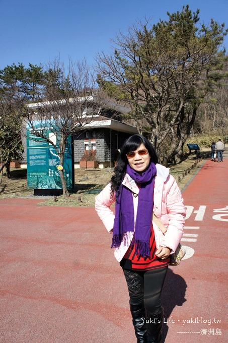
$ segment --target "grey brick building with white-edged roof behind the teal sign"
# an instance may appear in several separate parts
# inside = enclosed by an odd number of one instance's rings
[[[112,167],[124,140],[138,132],[134,126],[121,121],[122,115],[129,113],[129,108],[105,100],[102,108],[94,109],[94,101],[95,96],[91,95],[81,117],[85,121],[83,130],[73,136],[74,168],[80,168],[82,166],[80,161],[88,160],[89,156],[93,156],[96,166],[100,168]],[[28,106],[38,110],[41,106],[50,106],[50,104],[51,102],[32,103]],[[64,110],[64,100],[62,100],[62,110]],[[23,143],[25,146],[23,160],[26,161],[25,139]],[[26,163],[23,164],[22,161],[23,166],[26,167]],[[85,166],[89,167],[84,164]]]

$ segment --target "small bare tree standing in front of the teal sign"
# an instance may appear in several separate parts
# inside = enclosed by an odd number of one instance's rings
[[[34,139],[42,139],[54,147],[59,156],[59,165],[63,167],[59,170],[63,196],[68,197],[64,176],[67,138],[81,133],[85,125],[94,120],[104,105],[104,97],[96,89],[86,61],[76,66],[70,62],[67,72],[64,65],[54,61],[47,67],[45,79],[43,99],[24,107],[27,125]],[[55,140],[47,135],[50,125],[56,136]]]

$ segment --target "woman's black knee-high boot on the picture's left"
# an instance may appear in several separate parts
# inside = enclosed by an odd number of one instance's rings
[[[143,303],[135,305],[130,303],[130,310],[137,343],[147,343],[145,310]]]

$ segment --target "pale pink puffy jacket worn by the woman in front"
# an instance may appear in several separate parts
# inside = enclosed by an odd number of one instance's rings
[[[159,248],[159,246],[169,247],[172,249],[171,253],[173,253],[180,243],[183,235],[186,208],[184,206],[181,191],[174,177],[169,174],[169,168],[166,168],[161,164],[156,164],[156,168],[157,176],[155,178],[154,190],[154,213],[167,227],[166,235],[163,235],[159,227],[153,221],[156,246],[157,248]],[[122,183],[133,193],[139,192],[134,180],[132,180],[128,174],[126,174]],[[110,209],[113,202],[115,202],[115,194],[111,192],[111,184],[108,184],[103,191],[96,196],[95,209],[109,233],[112,233],[115,218],[113,211]],[[135,219],[137,213],[137,202],[138,197],[133,197]],[[122,242],[120,247],[115,249],[114,254],[117,261],[122,260],[132,238],[133,233],[129,235],[128,241],[125,245]]]

